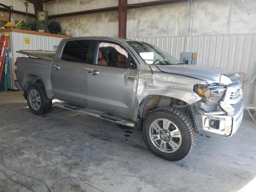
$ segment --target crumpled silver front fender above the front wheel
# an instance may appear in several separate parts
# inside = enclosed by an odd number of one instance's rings
[[[144,98],[150,95],[168,96],[180,99],[191,105],[202,98],[194,92],[195,84],[206,84],[205,81],[188,76],[165,73],[151,66],[153,74],[141,70],[138,80],[136,105],[133,119],[137,120],[138,108]]]

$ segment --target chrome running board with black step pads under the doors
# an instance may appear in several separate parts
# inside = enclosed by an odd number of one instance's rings
[[[60,108],[64,108],[64,109],[72,110],[75,112],[83,113],[83,114],[86,114],[89,116],[101,118],[101,119],[115,122],[115,123],[118,123],[118,124],[121,124],[124,126],[134,127],[134,122],[124,120],[122,118],[107,114],[106,112],[102,112],[102,111],[98,111],[98,110],[94,110],[94,109],[90,109],[90,108],[86,108],[86,107],[75,106],[72,104],[62,104],[59,102],[54,102],[53,104]]]

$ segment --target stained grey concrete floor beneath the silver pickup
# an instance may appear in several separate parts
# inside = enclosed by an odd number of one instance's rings
[[[44,179],[54,192],[237,192],[256,177],[256,127],[247,113],[232,138],[198,136],[189,156],[168,162],[133,129],[56,107],[36,116],[21,94],[0,93],[0,150],[8,166]],[[47,191],[2,163],[0,170]],[[28,189],[0,172],[0,191]]]

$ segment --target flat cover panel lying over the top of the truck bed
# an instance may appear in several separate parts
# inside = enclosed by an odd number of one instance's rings
[[[27,56],[36,57],[52,61],[55,55],[55,51],[43,51],[43,50],[19,50],[17,53],[21,53]]]

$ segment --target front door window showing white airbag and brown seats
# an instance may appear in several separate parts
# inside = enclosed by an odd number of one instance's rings
[[[128,53],[117,44],[101,42],[99,44],[97,64],[128,68]]]

